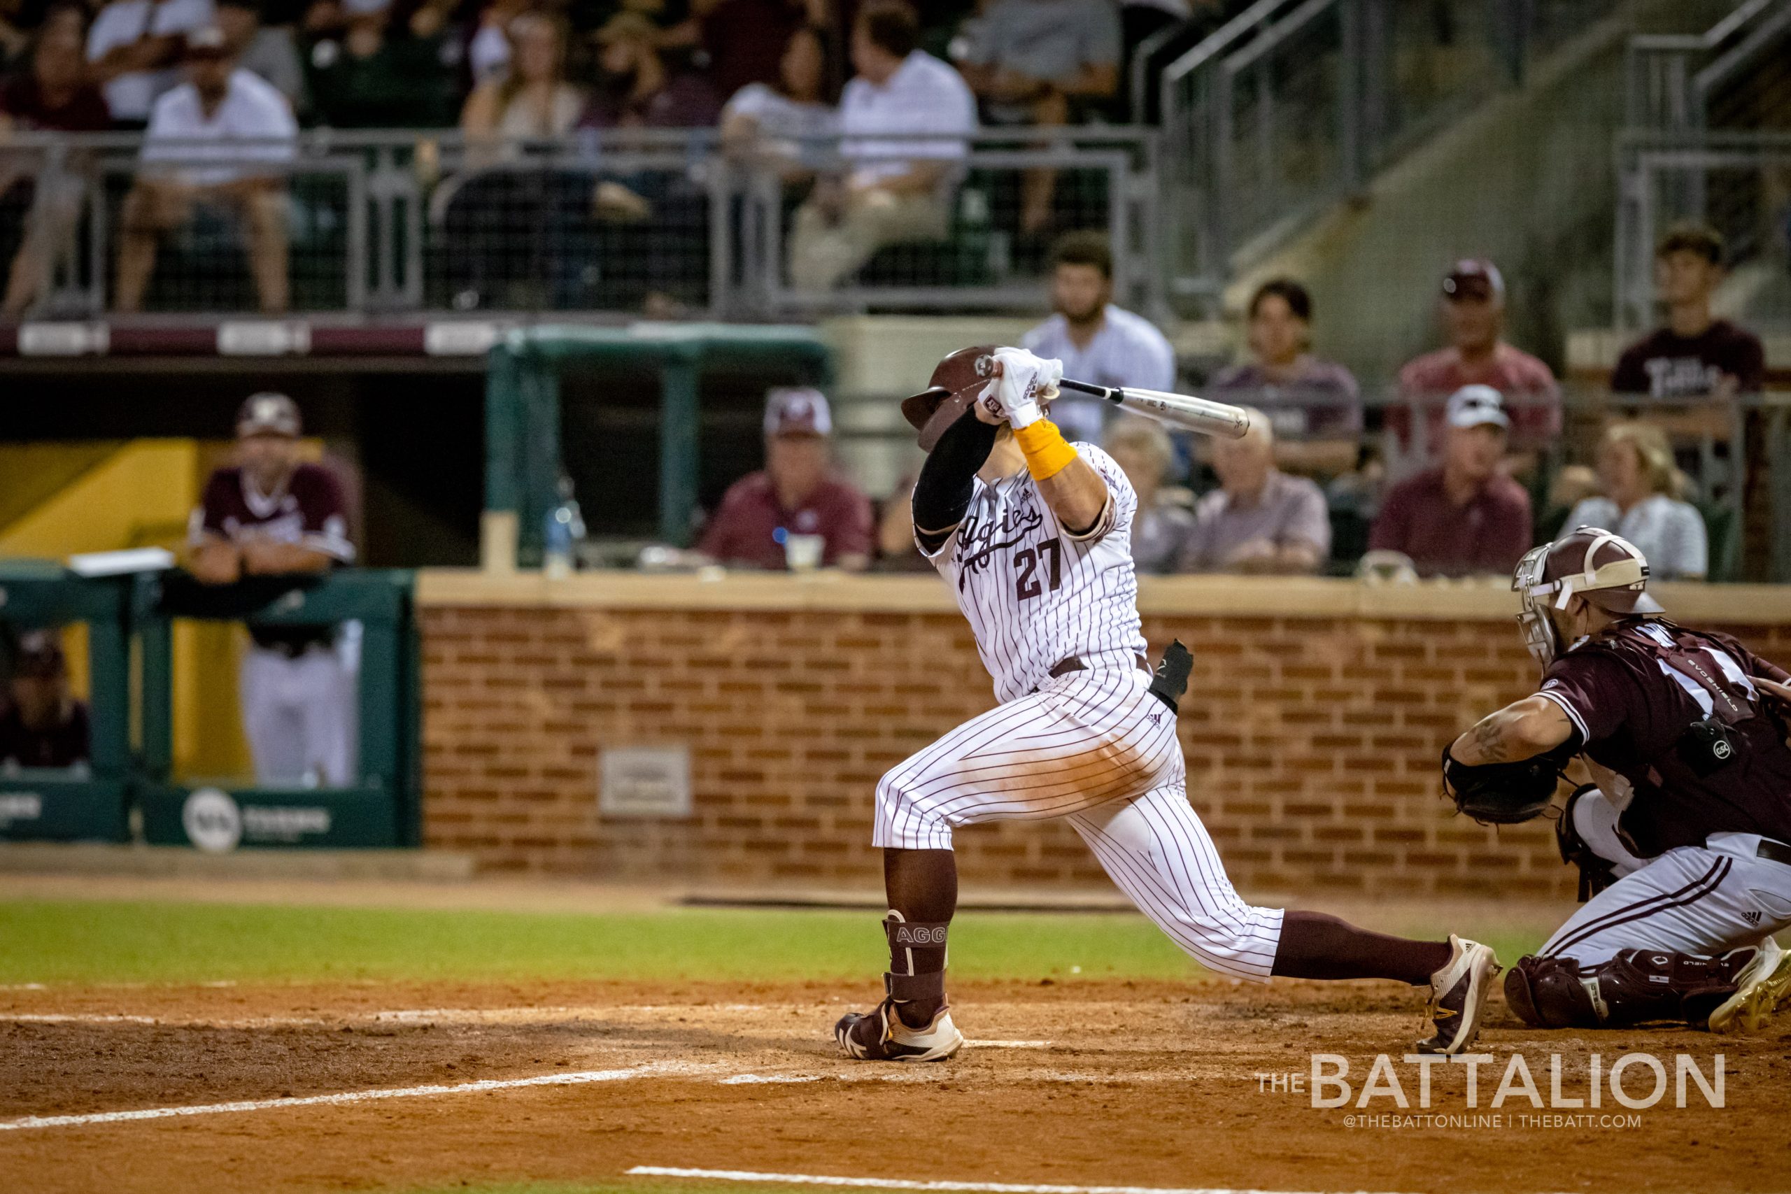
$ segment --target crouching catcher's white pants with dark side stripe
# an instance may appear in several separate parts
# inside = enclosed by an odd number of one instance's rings
[[[1624,949],[1712,958],[1791,925],[1791,866],[1759,857],[1759,834],[1710,834],[1707,845],[1635,857],[1617,840],[1617,809],[1596,791],[1574,802],[1574,827],[1619,879],[1555,931],[1544,956],[1581,967]]]

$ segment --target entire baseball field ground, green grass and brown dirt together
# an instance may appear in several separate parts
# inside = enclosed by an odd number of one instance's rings
[[[1447,1063],[1426,1108],[1402,1060],[1415,992],[1216,979],[1135,915],[965,911],[951,974],[971,1047],[853,1063],[829,1026],[876,995],[874,913],[462,886],[0,881],[0,1189],[1786,1185],[1780,1028],[1547,1035],[1495,997],[1472,1104],[1469,1067]],[[1347,911],[1390,931],[1467,920],[1506,959],[1562,913]],[[1660,1060],[1664,1096],[1630,1110],[1601,1081],[1594,1104],[1592,1056],[1608,1074],[1632,1053]],[[1540,1097],[1495,1104],[1513,1054]],[[1696,1079],[1675,1106],[1678,1069],[1710,1081],[1718,1054],[1718,1106]],[[1315,1106],[1315,1067],[1341,1063],[1350,1099]],[[1653,1085],[1624,1067],[1632,1103]]]

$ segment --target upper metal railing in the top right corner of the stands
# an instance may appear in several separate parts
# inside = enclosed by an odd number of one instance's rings
[[[1712,97],[1787,32],[1791,0],[1744,0],[1701,34],[1637,34],[1624,55],[1624,124],[1669,132],[1725,124]]]

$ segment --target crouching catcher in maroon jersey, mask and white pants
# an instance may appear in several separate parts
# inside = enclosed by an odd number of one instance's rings
[[[1530,551],[1512,587],[1542,687],[1444,752],[1456,807],[1521,822],[1562,764],[1596,784],[1556,822],[1585,904],[1504,979],[1533,1028],[1684,1020],[1757,1029],[1791,990],[1791,748],[1786,671],[1725,635],[1676,627],[1648,560],[1581,526]]]

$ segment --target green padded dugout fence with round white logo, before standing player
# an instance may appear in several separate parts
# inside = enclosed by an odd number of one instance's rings
[[[141,641],[138,806],[152,845],[421,845],[419,646],[412,582],[399,569],[338,569],[208,587],[184,573],[147,576],[133,612]],[[360,623],[358,777],[346,788],[272,788],[174,768],[174,623],[251,627]],[[208,711],[236,716],[236,709]]]

